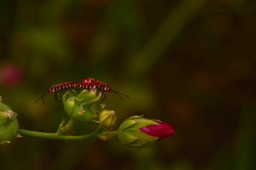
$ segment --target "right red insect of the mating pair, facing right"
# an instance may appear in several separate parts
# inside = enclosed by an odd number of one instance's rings
[[[101,81],[97,81],[95,79],[92,78],[85,78],[82,80],[82,82],[80,83],[79,86],[81,89],[87,89],[87,90],[91,90],[91,89],[97,89],[98,91],[102,91],[102,94],[104,95],[104,98],[102,99],[102,101],[105,100],[106,95],[105,92],[114,92],[115,94],[117,94],[117,96],[119,96],[122,99],[122,96],[120,96],[119,91],[113,91],[110,86],[108,86],[106,83],[103,83]],[[123,96],[126,96],[127,98],[129,98],[127,95],[122,94]]]

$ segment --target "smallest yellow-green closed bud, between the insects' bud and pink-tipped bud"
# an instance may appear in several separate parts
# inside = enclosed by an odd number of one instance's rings
[[[110,128],[114,126],[115,121],[117,120],[117,115],[114,111],[102,111],[100,113],[99,123],[104,128]]]

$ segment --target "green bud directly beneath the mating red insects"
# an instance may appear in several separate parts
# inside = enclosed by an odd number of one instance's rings
[[[97,103],[100,95],[96,91],[83,90],[80,94],[77,91],[68,91],[63,95],[63,105],[70,118],[81,122],[90,122],[97,118],[98,112],[102,111],[103,105]]]

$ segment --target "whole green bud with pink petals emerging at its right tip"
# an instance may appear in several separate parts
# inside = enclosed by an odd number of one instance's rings
[[[119,141],[134,149],[144,149],[173,134],[171,125],[137,115],[124,120],[118,129]]]

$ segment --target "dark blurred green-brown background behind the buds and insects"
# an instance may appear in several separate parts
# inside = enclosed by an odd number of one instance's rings
[[[51,85],[92,77],[115,128],[131,115],[174,136],[134,151],[118,140],[33,137],[0,146],[0,169],[256,169],[256,1],[1,1],[0,95],[20,128],[55,132],[66,117]]]

